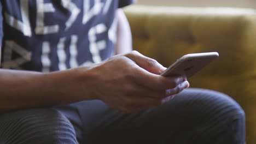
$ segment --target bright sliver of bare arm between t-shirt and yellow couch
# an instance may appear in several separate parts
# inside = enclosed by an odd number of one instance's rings
[[[132,34],[129,22],[124,14],[122,9],[117,11],[117,44],[116,44],[116,53],[124,54],[132,51]]]

